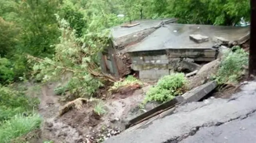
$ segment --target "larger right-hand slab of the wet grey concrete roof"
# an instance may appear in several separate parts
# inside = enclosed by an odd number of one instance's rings
[[[158,28],[136,46],[128,48],[128,52],[142,52],[164,49],[211,49],[214,37],[222,37],[235,41],[248,34],[249,27],[212,26],[192,24],[166,24]],[[190,40],[191,34],[209,37],[208,42],[196,43]]]

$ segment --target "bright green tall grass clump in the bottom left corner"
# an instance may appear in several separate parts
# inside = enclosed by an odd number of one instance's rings
[[[0,143],[10,143],[11,139],[39,128],[41,122],[42,118],[38,114],[32,114],[28,117],[15,115],[0,125]]]

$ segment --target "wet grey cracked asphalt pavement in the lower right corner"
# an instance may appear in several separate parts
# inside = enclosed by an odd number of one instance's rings
[[[256,81],[231,99],[187,103],[147,127],[111,137],[104,143],[255,143]]]

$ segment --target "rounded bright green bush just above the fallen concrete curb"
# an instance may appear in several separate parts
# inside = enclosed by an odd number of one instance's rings
[[[165,102],[181,95],[186,89],[184,73],[172,73],[159,79],[154,87],[146,93],[144,103],[148,101]]]

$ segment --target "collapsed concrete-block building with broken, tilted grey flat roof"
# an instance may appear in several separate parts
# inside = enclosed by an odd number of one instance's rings
[[[176,19],[145,20],[112,29],[114,40],[102,58],[102,71],[117,77],[137,71],[140,79],[159,79],[172,72],[189,72],[218,57],[218,47],[248,40],[248,27],[175,24]],[[105,55],[102,54],[102,55]],[[103,56],[104,57],[104,56]],[[104,67],[112,70],[106,70]]]

